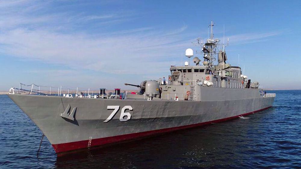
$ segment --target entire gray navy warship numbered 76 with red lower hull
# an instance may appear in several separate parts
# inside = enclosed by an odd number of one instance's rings
[[[275,94],[227,62],[225,43],[197,39],[189,62],[171,66],[167,80],[145,80],[139,92],[101,88],[97,95],[51,94],[11,88],[8,96],[39,127],[57,154],[243,117],[272,106]],[[225,41],[225,40],[224,40]],[[28,92],[20,94],[20,91]]]

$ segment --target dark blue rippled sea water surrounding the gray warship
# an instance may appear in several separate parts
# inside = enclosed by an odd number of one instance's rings
[[[0,168],[301,168],[301,91],[272,108],[205,127],[57,157],[36,125],[0,95]]]

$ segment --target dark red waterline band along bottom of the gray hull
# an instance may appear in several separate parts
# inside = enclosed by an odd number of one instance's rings
[[[241,115],[249,115],[251,113],[259,112],[259,111],[268,109],[270,107],[272,107],[272,106],[266,107],[264,109],[256,110],[253,112],[241,114]],[[185,129],[185,128],[192,128],[192,127],[202,126],[202,125],[211,124],[211,123],[218,123],[218,122],[227,121],[227,120],[230,120],[233,118],[237,118],[238,116],[241,116],[241,115],[228,117],[228,118],[222,118],[219,120],[207,121],[207,122],[198,123],[198,124],[190,124],[190,125],[186,125],[186,126],[164,128],[164,129],[160,129],[160,130],[145,131],[145,132],[141,132],[141,133],[132,133],[132,134],[119,135],[119,136],[92,139],[92,141],[83,140],[83,141],[76,141],[76,142],[70,142],[70,143],[52,144],[52,146],[56,153],[61,153],[61,152],[67,152],[67,151],[71,151],[71,150],[88,148],[88,145],[89,145],[89,147],[100,146],[100,145],[104,145],[104,144],[116,143],[116,142],[125,141],[125,140],[132,140],[132,139],[136,139],[136,138],[140,138],[140,137],[146,137],[146,136],[165,133],[165,132],[169,132],[169,131],[175,131],[175,130],[180,130],[180,129]]]

